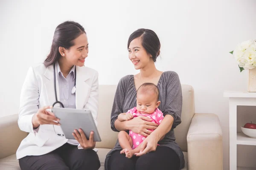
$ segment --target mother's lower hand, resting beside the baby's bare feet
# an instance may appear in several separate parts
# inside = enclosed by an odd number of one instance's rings
[[[142,156],[146,153],[155,151],[157,149],[157,137],[154,134],[149,135],[141,144],[140,144],[140,153],[134,153],[136,156]]]

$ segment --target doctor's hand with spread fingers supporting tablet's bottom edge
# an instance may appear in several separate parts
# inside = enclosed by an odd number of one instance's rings
[[[87,140],[84,131],[81,129],[79,129],[79,131],[74,130],[74,133],[72,133],[72,135],[84,149],[93,149],[96,145],[96,142],[93,141],[93,131],[90,133],[89,140]]]

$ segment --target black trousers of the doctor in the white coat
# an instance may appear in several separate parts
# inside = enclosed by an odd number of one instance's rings
[[[21,170],[98,170],[99,157],[94,150],[78,149],[64,144],[41,156],[25,156],[19,159]]]

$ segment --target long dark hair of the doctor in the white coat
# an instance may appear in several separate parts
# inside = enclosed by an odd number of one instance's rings
[[[59,47],[69,49],[74,45],[73,40],[83,33],[86,34],[84,27],[74,21],[65,21],[58,25],[53,35],[50,53],[44,60],[44,65],[47,67],[57,62],[61,57]]]

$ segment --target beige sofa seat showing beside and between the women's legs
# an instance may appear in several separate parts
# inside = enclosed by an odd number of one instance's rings
[[[105,157],[110,150],[111,149],[99,148],[97,152],[101,164],[99,170],[104,170]],[[188,154],[186,152],[183,152],[183,154],[185,157],[185,167],[182,170],[188,170]],[[16,160],[16,154],[0,159],[0,170],[20,170],[19,161]]]

